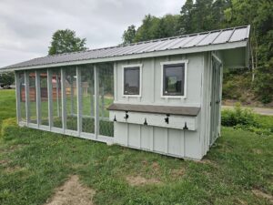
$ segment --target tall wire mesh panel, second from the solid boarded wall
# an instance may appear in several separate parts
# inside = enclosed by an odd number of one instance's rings
[[[81,72],[81,97],[82,97],[82,131],[95,132],[95,88],[94,67],[80,68]]]

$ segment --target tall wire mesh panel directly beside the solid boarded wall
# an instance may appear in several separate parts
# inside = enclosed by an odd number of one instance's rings
[[[107,108],[114,101],[114,67],[113,64],[97,66],[99,79],[99,135],[113,137],[114,122],[109,120]]]

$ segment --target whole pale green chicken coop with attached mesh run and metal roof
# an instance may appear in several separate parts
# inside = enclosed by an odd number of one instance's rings
[[[249,26],[38,57],[15,71],[18,125],[183,159],[220,136],[223,67],[248,67]]]

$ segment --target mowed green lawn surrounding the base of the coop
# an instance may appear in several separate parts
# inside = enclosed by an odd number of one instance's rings
[[[1,119],[15,117],[14,90],[0,90],[0,114]],[[44,204],[73,174],[96,190],[96,205],[270,204],[253,190],[273,194],[272,150],[272,136],[233,128],[222,128],[222,137],[202,162],[31,128],[5,128],[0,204]],[[127,176],[161,183],[131,186]]]

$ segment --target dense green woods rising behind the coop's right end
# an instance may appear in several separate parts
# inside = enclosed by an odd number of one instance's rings
[[[245,72],[251,74],[250,86],[255,97],[268,103],[273,99],[272,0],[187,0],[179,15],[146,15],[141,26],[128,26],[122,43],[246,25],[251,25],[251,31],[250,67]]]

